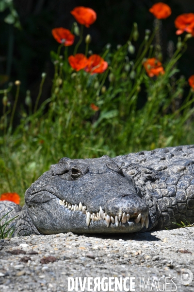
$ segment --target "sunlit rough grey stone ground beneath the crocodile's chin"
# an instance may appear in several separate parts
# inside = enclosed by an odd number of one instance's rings
[[[66,292],[68,277],[135,277],[134,291],[153,292],[160,291],[154,285],[163,277],[170,283],[163,291],[194,292],[194,280],[181,284],[185,268],[194,273],[193,227],[117,236],[70,232],[0,240],[0,292]],[[141,290],[143,277],[146,283],[150,279],[150,286]],[[89,291],[87,286],[84,291]]]

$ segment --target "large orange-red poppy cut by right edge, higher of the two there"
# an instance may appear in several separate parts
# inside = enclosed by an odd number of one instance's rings
[[[176,32],[177,35],[187,32],[194,37],[194,13],[184,13],[179,15],[175,19],[175,26],[178,28]]]

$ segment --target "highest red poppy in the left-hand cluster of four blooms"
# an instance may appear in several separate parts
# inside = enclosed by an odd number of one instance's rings
[[[90,27],[90,25],[97,19],[97,14],[93,9],[83,6],[75,7],[71,11],[71,14],[80,24],[83,24],[86,27]]]

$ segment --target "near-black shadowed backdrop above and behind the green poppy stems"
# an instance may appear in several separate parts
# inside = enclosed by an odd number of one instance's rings
[[[7,4],[3,11],[2,3]],[[33,104],[38,93],[41,73],[47,73],[41,102],[49,97],[52,86],[53,64],[50,51],[57,51],[58,43],[51,35],[51,29],[70,29],[75,19],[69,13],[76,6],[91,7],[97,12],[97,21],[84,30],[92,36],[90,49],[101,53],[107,43],[112,48],[124,44],[129,39],[132,23],[138,23],[140,38],[136,49],[144,37],[145,28],[153,30],[153,15],[148,9],[156,0],[0,0],[0,88],[6,88],[6,80],[21,81],[19,101],[23,102],[26,90],[31,91]],[[175,50],[177,36],[174,19],[182,14],[194,12],[194,0],[165,0],[172,9],[172,15],[162,21],[162,49],[164,59],[169,51]],[[8,24],[11,19],[9,6],[14,4],[20,26]],[[5,7],[4,7],[5,8]],[[17,17],[14,14],[17,20]],[[5,21],[4,21],[5,19]],[[14,20],[13,20],[14,21]],[[8,22],[8,23],[7,23]],[[15,23],[14,23],[15,24]],[[170,41],[170,42],[169,42]],[[174,47],[174,48],[173,48]],[[194,38],[189,41],[186,53],[179,60],[178,67],[186,79],[194,73]],[[84,43],[79,49],[84,53]],[[69,48],[71,53],[73,48]],[[143,92],[142,92],[143,94]],[[142,102],[145,96],[142,96]],[[13,100],[10,96],[10,100]],[[141,98],[140,98],[141,100]],[[141,105],[140,105],[141,106]],[[2,103],[0,103],[2,108]]]

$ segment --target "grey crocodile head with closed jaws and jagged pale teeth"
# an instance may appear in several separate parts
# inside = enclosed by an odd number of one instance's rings
[[[62,158],[32,183],[25,202],[41,234],[129,233],[149,222],[140,190],[109,156]]]

